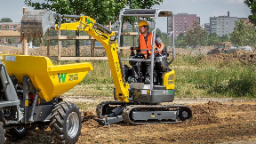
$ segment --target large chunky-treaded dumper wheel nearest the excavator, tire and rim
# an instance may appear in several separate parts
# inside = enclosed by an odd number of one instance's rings
[[[81,113],[76,104],[61,101],[52,110],[50,120],[50,134],[54,143],[76,143],[82,127]]]

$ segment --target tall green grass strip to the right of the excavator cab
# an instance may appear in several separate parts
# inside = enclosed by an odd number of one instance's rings
[[[176,60],[176,96],[256,98],[255,66],[204,58],[185,56]]]

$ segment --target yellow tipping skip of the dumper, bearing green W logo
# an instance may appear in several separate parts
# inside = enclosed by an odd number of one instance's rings
[[[10,76],[15,76],[20,83],[28,76],[37,90],[39,97],[50,101],[79,84],[88,71],[92,70],[89,62],[54,66],[47,57],[0,55]]]

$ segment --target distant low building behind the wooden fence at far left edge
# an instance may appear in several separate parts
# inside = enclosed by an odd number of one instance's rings
[[[20,30],[20,22],[0,22],[0,30]],[[14,43],[20,43],[20,37],[13,37]],[[0,38],[0,44],[8,44],[8,38]]]

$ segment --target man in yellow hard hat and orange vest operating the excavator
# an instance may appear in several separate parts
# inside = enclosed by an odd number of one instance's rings
[[[140,29],[140,36],[139,36],[139,47],[131,47],[131,51],[138,50],[141,54],[144,55],[145,59],[150,59],[152,46],[151,46],[151,36],[152,33],[148,32],[148,22],[145,20],[140,20],[138,28]],[[164,50],[164,43],[162,42],[161,38],[156,35],[156,41],[155,41],[155,51],[154,53],[161,53]],[[132,73],[134,75],[135,81],[140,76],[140,65],[144,64],[146,66],[146,73],[145,73],[145,84],[150,83],[150,68],[151,63],[149,61],[145,62],[135,62],[132,66]],[[138,82],[138,80],[137,80]],[[140,82],[140,80],[139,80]]]

